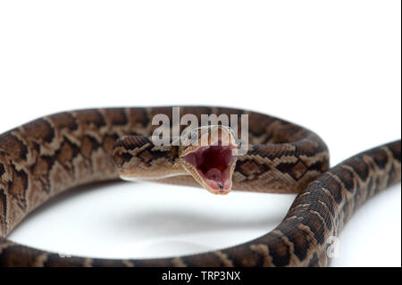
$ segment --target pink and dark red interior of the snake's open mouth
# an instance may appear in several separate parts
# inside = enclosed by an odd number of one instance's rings
[[[235,161],[230,146],[199,147],[183,158],[197,169],[205,183],[217,191],[231,187],[230,166]]]

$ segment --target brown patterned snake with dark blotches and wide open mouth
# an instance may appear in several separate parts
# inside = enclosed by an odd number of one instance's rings
[[[180,114],[191,114],[198,122],[203,115],[247,115],[247,152],[239,153],[239,144],[232,138],[236,131],[219,125],[215,128],[221,134],[214,144],[212,136],[206,137],[206,145],[178,146],[172,144],[174,136],[170,144],[155,144],[155,130],[161,126],[153,118],[163,114],[172,122],[170,106],[54,113],[1,134],[0,265],[328,266],[331,237],[339,236],[364,201],[401,180],[400,139],[330,168],[322,138],[296,123],[235,108],[178,108]],[[179,130],[184,127],[180,125]],[[196,127],[191,136],[205,126]],[[225,133],[230,137],[228,144],[222,143]],[[202,138],[195,137],[198,142]],[[80,185],[119,178],[197,186],[218,195],[233,189],[297,196],[272,231],[236,246],[187,256],[65,257],[7,239],[50,198]]]

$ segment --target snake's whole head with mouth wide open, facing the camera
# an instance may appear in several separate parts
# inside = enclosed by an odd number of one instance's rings
[[[191,138],[191,144],[180,147],[183,169],[209,192],[228,194],[239,149],[234,133],[228,127],[207,126],[193,130]]]

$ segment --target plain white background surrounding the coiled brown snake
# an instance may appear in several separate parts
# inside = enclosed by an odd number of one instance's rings
[[[0,132],[95,106],[230,105],[316,131],[331,164],[401,137],[400,1],[3,1]],[[401,265],[400,184],[341,232],[334,266]],[[81,188],[10,236],[66,254],[190,254],[254,239],[294,196]]]

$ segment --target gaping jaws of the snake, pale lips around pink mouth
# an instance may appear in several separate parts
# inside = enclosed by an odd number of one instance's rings
[[[238,146],[233,139],[222,144],[219,137],[208,146],[188,147],[180,155],[183,168],[213,194],[228,194],[236,166]]]

